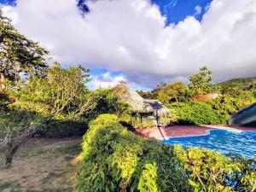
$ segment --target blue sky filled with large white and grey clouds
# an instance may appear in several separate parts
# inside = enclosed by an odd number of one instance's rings
[[[63,67],[90,68],[90,89],[137,90],[256,76],[255,0],[0,0],[3,14]]]

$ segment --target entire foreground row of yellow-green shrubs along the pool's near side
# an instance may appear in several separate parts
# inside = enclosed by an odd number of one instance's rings
[[[115,115],[91,121],[74,191],[250,191],[256,160],[137,137]]]

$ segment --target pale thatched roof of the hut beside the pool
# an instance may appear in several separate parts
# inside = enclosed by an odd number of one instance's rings
[[[131,106],[133,112],[158,113],[160,116],[166,116],[170,112],[169,109],[158,100],[143,99],[137,91],[131,89],[125,82],[119,83],[113,90],[124,102]]]

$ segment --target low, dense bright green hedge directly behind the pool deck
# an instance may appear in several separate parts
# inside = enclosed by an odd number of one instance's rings
[[[225,124],[227,119],[207,102],[174,102],[168,105],[182,125]]]

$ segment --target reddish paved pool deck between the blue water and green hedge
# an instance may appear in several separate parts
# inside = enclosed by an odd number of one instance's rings
[[[163,127],[150,127],[146,129],[138,129],[135,133],[141,137],[147,137],[156,140],[166,140],[172,137],[193,137],[205,136],[211,130],[231,130],[231,131],[256,131],[255,128],[249,127],[230,127],[228,125],[174,125]]]

